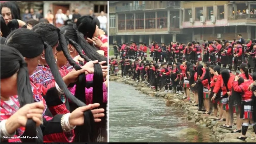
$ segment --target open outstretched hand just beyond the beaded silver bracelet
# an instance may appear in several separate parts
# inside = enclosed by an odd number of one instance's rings
[[[100,104],[99,103],[95,103],[95,104],[89,104],[87,106],[81,106],[81,107],[78,107],[77,109],[75,109],[69,116],[69,124],[71,127],[74,127],[74,126],[77,126],[77,125],[83,125],[84,123],[84,111],[88,111],[88,110],[91,110],[92,111],[92,114],[93,114],[93,117],[94,117],[94,121],[97,123],[97,122],[100,122],[101,119],[100,117],[104,117],[104,109],[95,109],[95,110],[92,110],[94,108],[97,108],[99,107]]]

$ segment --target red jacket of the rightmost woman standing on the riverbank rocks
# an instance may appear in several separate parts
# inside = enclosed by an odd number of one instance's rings
[[[253,92],[249,91],[249,87],[253,83],[252,80],[245,81],[238,85],[238,81],[233,81],[233,89],[236,92],[243,93],[242,98],[243,100],[250,100],[252,99]]]

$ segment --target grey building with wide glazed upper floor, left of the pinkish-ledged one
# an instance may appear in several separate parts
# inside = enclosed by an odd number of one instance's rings
[[[180,1],[109,1],[109,42],[170,42],[181,36]]]

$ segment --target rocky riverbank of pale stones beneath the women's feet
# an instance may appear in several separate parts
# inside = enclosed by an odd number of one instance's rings
[[[125,84],[129,84],[135,87],[136,90],[139,90],[140,93],[145,93],[149,96],[162,97],[167,106],[174,106],[181,108],[186,117],[181,117],[180,119],[185,119],[188,121],[194,121],[196,124],[199,124],[203,127],[207,127],[212,130],[212,136],[216,139],[217,142],[244,142],[236,139],[236,137],[240,136],[240,133],[230,133],[232,130],[236,128],[225,128],[221,125],[224,124],[224,121],[213,121],[216,119],[213,115],[203,114],[198,110],[198,107],[194,107],[193,103],[190,103],[184,99],[182,99],[181,94],[175,93],[166,93],[164,91],[155,92],[154,89],[147,87],[146,84],[139,83],[133,81],[130,78],[122,78],[120,75],[109,76],[109,81],[122,82]],[[193,100],[193,95],[191,96],[191,101]],[[236,123],[236,118],[234,118],[234,122]],[[176,136],[189,136],[189,135],[197,135],[200,132],[193,128],[187,128],[177,133]],[[256,142],[256,135],[253,132],[252,126],[248,128],[246,133],[247,139],[246,142]]]

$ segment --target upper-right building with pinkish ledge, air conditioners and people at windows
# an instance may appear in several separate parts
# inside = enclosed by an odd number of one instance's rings
[[[256,38],[255,1],[181,1],[180,14],[190,40]]]

